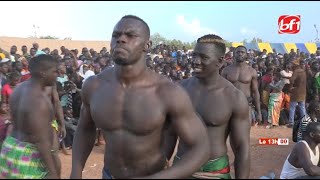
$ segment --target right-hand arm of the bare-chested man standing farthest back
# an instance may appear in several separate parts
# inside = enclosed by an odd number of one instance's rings
[[[260,93],[258,87],[258,74],[256,70],[252,69],[252,80],[251,80],[251,92],[254,98],[254,105],[255,109],[258,113],[258,120],[262,121],[261,119],[261,107],[260,107]]]

